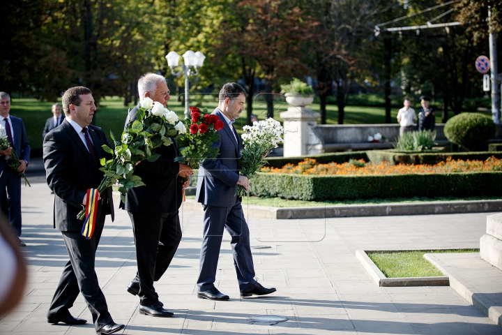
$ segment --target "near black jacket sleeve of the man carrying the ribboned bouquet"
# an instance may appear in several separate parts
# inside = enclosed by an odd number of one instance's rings
[[[64,202],[80,207],[86,193],[80,191],[68,180],[66,174],[78,173],[68,172],[68,138],[61,136],[61,133],[47,134],[43,143],[43,158],[45,172],[47,174],[47,184],[49,188]]]

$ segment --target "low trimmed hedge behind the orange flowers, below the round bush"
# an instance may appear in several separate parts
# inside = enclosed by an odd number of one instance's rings
[[[477,151],[477,152],[399,152],[387,150],[372,150],[366,151],[366,154],[372,163],[380,163],[382,161],[393,164],[437,164],[446,161],[449,157],[454,160],[462,159],[463,161],[486,161],[487,158],[495,156],[502,158],[501,151]]]

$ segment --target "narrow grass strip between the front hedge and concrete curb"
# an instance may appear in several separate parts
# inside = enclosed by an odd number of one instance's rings
[[[187,195],[187,199],[195,199],[195,195]],[[259,197],[244,197],[243,204],[254,204],[258,206],[268,207],[324,207],[324,206],[347,206],[356,204],[410,204],[415,202],[441,202],[441,201],[473,201],[473,200],[501,200],[501,197],[439,197],[439,198],[390,198],[390,199],[360,199],[360,200],[344,200],[344,201],[307,201],[307,200],[287,200],[282,198],[259,198]]]

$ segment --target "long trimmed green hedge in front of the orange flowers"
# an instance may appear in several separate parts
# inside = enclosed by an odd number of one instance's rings
[[[501,195],[502,172],[319,176],[259,172],[250,193],[296,200]]]

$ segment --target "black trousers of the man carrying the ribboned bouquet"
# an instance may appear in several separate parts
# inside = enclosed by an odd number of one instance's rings
[[[68,309],[73,306],[79,292],[82,292],[89,311],[91,311],[96,330],[113,322],[112,315],[108,312],[105,295],[99,287],[94,265],[96,249],[105,224],[105,215],[98,217],[96,227],[99,228],[94,231],[91,239],[83,237],[82,232],[61,232],[68,255],[70,255],[70,261],[63,269],[63,274],[61,274],[61,279],[47,312],[47,318],[70,315]]]

